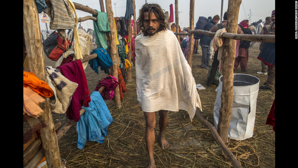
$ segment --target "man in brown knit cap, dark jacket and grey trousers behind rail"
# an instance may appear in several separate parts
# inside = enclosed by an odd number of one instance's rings
[[[215,15],[212,20],[208,20],[205,29],[206,31],[210,30],[214,25],[216,25],[218,23],[218,21],[220,20],[220,17],[218,15]],[[209,69],[209,58],[210,58],[210,51],[209,51],[209,47],[210,47],[210,42],[212,40],[212,37],[203,34],[199,45],[202,48],[202,65],[201,68],[204,69]]]

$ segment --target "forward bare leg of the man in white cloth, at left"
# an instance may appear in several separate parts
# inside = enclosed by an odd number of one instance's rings
[[[155,142],[154,128],[156,124],[155,112],[153,113],[144,112],[144,116],[145,116],[145,122],[146,122],[145,142],[146,142],[146,147],[147,147],[147,152],[149,157],[148,168],[155,168],[155,161],[154,161],[154,142]]]

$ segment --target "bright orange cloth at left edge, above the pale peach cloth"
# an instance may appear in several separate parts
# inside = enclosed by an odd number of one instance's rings
[[[34,92],[43,97],[52,97],[54,91],[50,88],[47,82],[44,82],[32,73],[23,71],[23,87],[30,87]]]

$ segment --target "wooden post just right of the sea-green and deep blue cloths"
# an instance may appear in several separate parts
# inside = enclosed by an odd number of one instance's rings
[[[110,39],[110,57],[112,59],[112,76],[115,77],[118,81],[118,71],[117,71],[117,64],[116,64],[116,40],[115,40],[115,26],[114,26],[114,13],[112,9],[112,2],[111,0],[106,0],[106,13],[108,14],[109,25],[111,29],[111,39]],[[119,59],[119,58],[118,58]],[[115,93],[115,106],[120,108],[121,101],[120,101],[120,90],[119,85],[114,90]]]

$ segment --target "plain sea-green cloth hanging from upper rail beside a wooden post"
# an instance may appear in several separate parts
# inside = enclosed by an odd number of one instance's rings
[[[96,10],[96,9],[95,9]],[[100,12],[96,10],[97,15],[92,15],[97,18],[97,21],[93,20],[94,36],[96,46],[107,49],[108,41],[106,39],[106,32],[111,31],[109,26],[109,19],[106,12]]]

